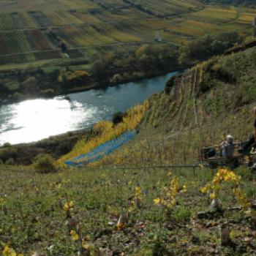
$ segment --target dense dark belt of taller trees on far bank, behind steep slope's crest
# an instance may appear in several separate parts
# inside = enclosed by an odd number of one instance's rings
[[[112,84],[160,75],[222,54],[242,40],[237,32],[227,32],[206,35],[188,45],[142,45],[134,51],[110,52],[94,61],[91,74],[99,83]]]

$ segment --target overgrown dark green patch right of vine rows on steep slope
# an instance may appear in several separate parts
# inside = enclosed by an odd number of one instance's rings
[[[217,106],[215,111],[219,114],[224,109],[229,111],[255,100],[255,64],[255,48],[246,52],[246,58],[244,53],[238,53],[225,59],[208,61],[203,67],[203,72],[207,73],[200,83],[203,91],[211,90],[214,94],[211,99],[206,99],[205,105],[210,105],[211,108],[206,107],[208,112],[212,111],[214,104]],[[232,95],[229,94],[230,89],[233,91]]]

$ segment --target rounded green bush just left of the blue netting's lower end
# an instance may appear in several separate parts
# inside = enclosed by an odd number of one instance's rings
[[[50,154],[39,154],[34,159],[34,168],[41,173],[51,173],[56,171],[54,159]]]

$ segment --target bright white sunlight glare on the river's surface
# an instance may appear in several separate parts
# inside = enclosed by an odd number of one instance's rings
[[[8,105],[4,107],[1,112],[11,115],[0,126],[0,144],[36,141],[72,131],[78,129],[83,121],[90,121],[97,113],[94,106],[69,102],[61,97],[31,99],[11,105],[11,108]]]

